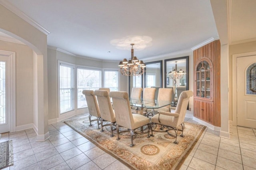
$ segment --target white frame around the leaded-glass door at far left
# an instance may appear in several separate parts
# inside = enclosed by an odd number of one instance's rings
[[[10,67],[7,68],[10,79],[6,81],[9,92],[9,99],[6,100],[6,105],[10,112],[10,132],[16,132],[16,53],[13,51],[0,50],[0,55],[8,56]]]

